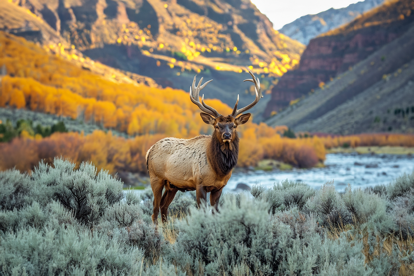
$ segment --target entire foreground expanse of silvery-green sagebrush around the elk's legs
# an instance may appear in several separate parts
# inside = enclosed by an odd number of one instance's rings
[[[0,173],[0,275],[411,275],[413,194],[414,174],[343,195],[255,186],[219,213],[179,193],[155,228],[151,190],[57,158]]]

